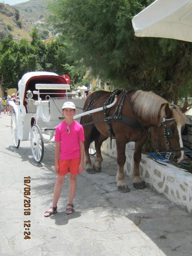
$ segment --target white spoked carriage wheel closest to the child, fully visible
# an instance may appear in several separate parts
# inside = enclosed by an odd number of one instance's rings
[[[44,141],[39,126],[34,124],[30,134],[31,150],[36,162],[41,162],[44,155]]]

